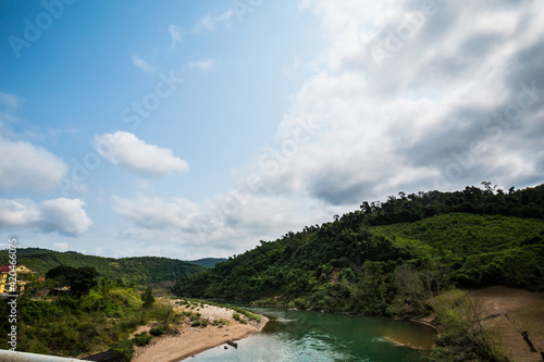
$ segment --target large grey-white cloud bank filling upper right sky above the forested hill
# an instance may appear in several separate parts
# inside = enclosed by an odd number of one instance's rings
[[[261,192],[355,207],[400,190],[542,182],[539,2],[430,3],[302,2],[331,43],[280,125],[282,158],[267,159],[277,167],[250,167],[265,175]],[[321,128],[282,151],[301,117]]]

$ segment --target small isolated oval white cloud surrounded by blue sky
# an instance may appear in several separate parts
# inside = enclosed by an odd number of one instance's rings
[[[147,145],[127,132],[97,135],[95,143],[106,146],[98,148],[101,157],[140,175],[165,176],[189,170],[187,162],[175,157],[171,149]]]

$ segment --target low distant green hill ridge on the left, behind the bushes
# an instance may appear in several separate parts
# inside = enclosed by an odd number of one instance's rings
[[[102,258],[77,252],[58,252],[47,249],[17,249],[17,262],[37,272],[38,277],[59,265],[94,266],[99,276],[122,278],[138,285],[176,280],[203,270],[202,266],[175,259],[157,257]],[[0,253],[0,264],[8,263],[8,253]]]

